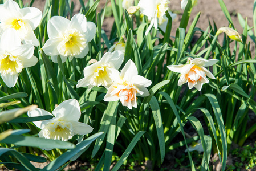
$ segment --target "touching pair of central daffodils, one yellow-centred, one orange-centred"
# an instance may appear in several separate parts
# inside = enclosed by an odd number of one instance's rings
[[[121,72],[118,71],[124,60],[123,51],[107,52],[100,61],[84,68],[84,78],[78,80],[76,87],[104,86],[108,89],[105,101],[120,100],[129,109],[137,107],[137,96],[148,96],[146,87],[151,80],[138,75],[135,63],[128,60]]]

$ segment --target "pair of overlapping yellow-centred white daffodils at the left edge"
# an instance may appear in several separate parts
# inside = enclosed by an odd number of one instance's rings
[[[0,5],[0,74],[6,86],[14,87],[23,68],[35,66],[33,55],[38,46],[34,31],[42,12],[34,7],[19,8],[18,3],[7,0]]]

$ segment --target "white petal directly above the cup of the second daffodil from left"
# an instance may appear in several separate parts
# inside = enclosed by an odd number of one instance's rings
[[[76,14],[71,18],[70,23],[68,24],[68,29],[75,28],[80,31],[82,34],[86,32],[87,28],[86,16],[83,14]],[[96,28],[95,28],[96,29]]]

